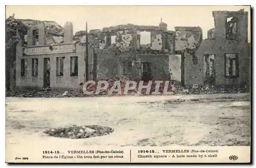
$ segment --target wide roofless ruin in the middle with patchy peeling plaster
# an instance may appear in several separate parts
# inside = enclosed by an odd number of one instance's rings
[[[134,24],[104,27],[89,32],[89,43],[97,55],[96,78],[126,76],[137,80],[177,80],[184,83],[184,57],[202,42],[200,27],[175,27],[167,24]],[[75,34],[83,41],[86,32]],[[187,65],[190,66],[188,64]],[[189,69],[189,68],[186,68]],[[190,70],[186,73],[189,75]],[[183,77],[182,77],[183,76]]]

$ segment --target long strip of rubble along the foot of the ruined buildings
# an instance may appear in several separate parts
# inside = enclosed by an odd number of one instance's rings
[[[105,90],[101,90],[99,94],[95,95],[98,81],[96,81],[95,85],[90,83],[87,86],[87,91],[92,92],[93,94],[88,95],[83,93],[83,83],[81,82],[78,86],[78,89],[69,89],[69,90],[52,90],[50,88],[44,88],[44,89],[37,89],[37,90],[13,90],[6,92],[6,97],[89,97],[89,96],[117,96],[117,95],[123,95],[124,94],[124,88],[126,86],[126,81],[132,80],[128,77],[111,77],[111,78],[103,78],[100,79],[103,81],[108,81],[109,86]],[[120,81],[120,87],[121,87],[121,94],[118,92],[110,92],[111,88],[114,86],[115,81]],[[136,81],[136,80],[134,80]],[[134,90],[127,91],[127,95],[137,95],[138,89],[139,89],[139,82],[140,80],[136,81],[137,87]],[[143,85],[148,85],[147,81],[143,82]],[[132,84],[130,84],[129,87],[131,87]],[[104,87],[104,84],[101,84],[101,87]],[[195,95],[202,95],[202,94],[223,94],[223,93],[245,93],[250,92],[248,87],[214,87],[209,85],[199,86],[197,84],[194,84],[190,87],[184,87],[181,86],[181,83],[175,80],[170,80],[169,85],[166,88],[165,83],[161,83],[158,87],[156,86],[155,81],[153,80],[150,95],[154,94],[155,91],[158,90],[160,94],[158,95],[165,95],[164,92],[167,91],[168,94],[179,94],[179,95],[187,95],[187,94],[195,94]],[[117,86],[115,87],[117,89]],[[63,93],[64,92],[64,93]],[[140,95],[147,95],[146,89],[142,89]]]

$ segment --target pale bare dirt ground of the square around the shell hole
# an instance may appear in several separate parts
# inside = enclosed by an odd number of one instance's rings
[[[46,129],[109,126],[109,135],[50,137]],[[6,98],[6,145],[249,146],[250,94]],[[40,147],[37,147],[40,148]]]

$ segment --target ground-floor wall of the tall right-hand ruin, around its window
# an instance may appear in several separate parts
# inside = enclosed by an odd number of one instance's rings
[[[238,54],[239,77],[225,77],[225,54]],[[239,43],[235,40],[203,40],[196,52],[198,58],[203,59],[204,54],[215,54],[215,85],[245,85],[248,80],[248,69],[250,67],[249,47],[247,43]],[[203,65],[203,64],[202,64]],[[203,69],[206,71],[205,69]],[[205,80],[205,78],[204,78]]]

